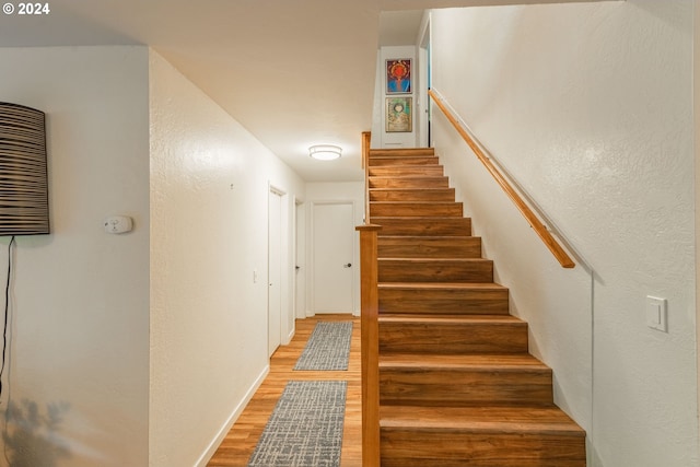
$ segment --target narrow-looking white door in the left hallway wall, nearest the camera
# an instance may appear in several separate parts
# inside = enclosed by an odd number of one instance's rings
[[[268,209],[268,354],[280,347],[282,335],[282,197],[270,191]]]

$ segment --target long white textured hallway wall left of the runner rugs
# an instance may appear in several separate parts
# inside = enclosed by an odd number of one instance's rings
[[[304,184],[155,52],[150,73],[150,466],[205,465],[267,371],[268,184],[290,213]]]

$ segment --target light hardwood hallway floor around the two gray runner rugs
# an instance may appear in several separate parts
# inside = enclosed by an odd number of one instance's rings
[[[293,371],[316,323],[352,320],[352,341],[348,371]],[[296,320],[296,332],[289,346],[280,347],[270,361],[270,374],[232,427],[208,467],[246,466],[265,424],[290,380],[340,380],[348,382],[346,419],[342,433],[340,467],[362,465],[362,411],[360,386],[360,318],[351,315],[316,315]],[[272,467],[272,466],[270,466]],[[312,467],[312,466],[310,466]]]

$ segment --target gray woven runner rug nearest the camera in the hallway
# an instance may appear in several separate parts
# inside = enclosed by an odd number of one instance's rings
[[[248,467],[338,467],[347,388],[345,381],[290,381]]]

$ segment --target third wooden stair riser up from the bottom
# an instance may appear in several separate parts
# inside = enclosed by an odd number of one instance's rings
[[[382,323],[381,353],[526,353],[525,323]]]

